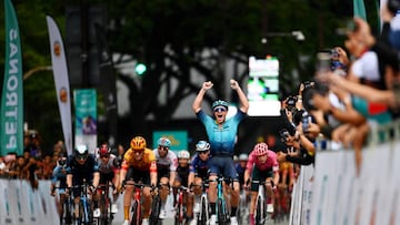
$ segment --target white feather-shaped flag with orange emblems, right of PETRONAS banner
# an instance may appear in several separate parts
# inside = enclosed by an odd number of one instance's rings
[[[72,154],[72,119],[66,52],[60,31],[54,20],[49,16],[46,18],[49,29],[51,63],[54,75],[57,100],[61,115],[62,132],[66,149],[68,155],[70,155]]]

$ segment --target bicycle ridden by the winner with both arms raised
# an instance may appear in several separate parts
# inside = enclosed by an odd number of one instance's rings
[[[229,212],[227,201],[223,196],[223,182],[230,183],[231,180],[219,176],[217,180],[213,180],[211,182],[217,182],[217,222],[219,225],[229,224]]]

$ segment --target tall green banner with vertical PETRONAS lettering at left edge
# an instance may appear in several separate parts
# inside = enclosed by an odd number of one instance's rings
[[[0,154],[23,152],[23,80],[20,32],[16,10],[4,0],[6,57],[0,111]]]

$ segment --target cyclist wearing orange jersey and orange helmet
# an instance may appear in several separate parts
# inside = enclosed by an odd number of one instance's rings
[[[132,181],[133,180],[133,181]],[[144,186],[142,191],[143,196],[143,219],[142,225],[149,224],[150,206],[151,206],[151,187],[157,185],[157,164],[153,151],[147,149],[146,140],[142,136],[134,136],[130,142],[130,149],[123,155],[123,161],[120,172],[120,183],[118,190],[121,190],[121,184],[132,184],[133,182],[150,184]],[[129,207],[132,201],[133,185],[127,185],[123,195],[123,224],[129,225]]]

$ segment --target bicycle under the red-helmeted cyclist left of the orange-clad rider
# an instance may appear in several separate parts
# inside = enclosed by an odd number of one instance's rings
[[[113,185],[111,185],[112,188],[114,188]],[[112,219],[113,219],[113,213],[111,212],[111,198],[109,195],[109,191],[110,191],[110,183],[107,182],[107,184],[101,184],[98,186],[97,191],[99,191],[98,193],[100,194],[100,201],[99,201],[99,206],[100,206],[100,212],[101,212],[101,216],[99,219],[99,224],[100,225],[109,225],[111,224]]]

